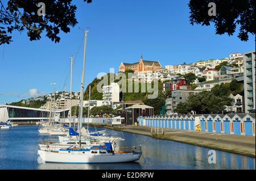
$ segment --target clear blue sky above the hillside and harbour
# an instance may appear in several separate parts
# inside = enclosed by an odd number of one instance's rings
[[[224,58],[234,52],[255,49],[255,37],[247,42],[234,36],[215,35],[214,26],[191,26],[188,1],[93,1],[77,5],[79,24],[71,33],[61,33],[61,41],[47,37],[30,41],[26,32],[13,33],[10,45],[0,46],[0,104],[27,99],[31,95],[69,90],[69,57],[79,50],[83,32],[88,34],[86,85],[98,73],[109,72],[121,62],[159,60],[164,65]],[[46,7],[47,13],[47,7]],[[80,90],[83,44],[73,67],[73,91]],[[31,90],[32,89],[32,90]]]

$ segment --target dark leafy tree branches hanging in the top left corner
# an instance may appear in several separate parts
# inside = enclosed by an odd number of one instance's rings
[[[30,40],[40,40],[45,31],[46,36],[58,43],[60,31],[70,32],[70,27],[75,27],[76,5],[72,0],[42,1],[46,5],[46,15],[39,16],[38,0],[16,1],[9,0],[6,5],[0,1],[0,45],[10,44],[13,31],[22,32],[26,29]],[[92,0],[84,0],[90,3]]]

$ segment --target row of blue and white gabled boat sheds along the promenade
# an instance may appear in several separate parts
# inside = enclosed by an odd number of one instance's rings
[[[138,117],[144,127],[255,136],[255,113]]]

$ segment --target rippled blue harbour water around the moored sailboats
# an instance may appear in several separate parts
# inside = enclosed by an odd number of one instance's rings
[[[97,128],[99,130],[102,129]],[[216,150],[216,163],[209,164],[208,148],[111,129],[108,133],[125,137],[122,146],[142,145],[146,162],[141,158],[133,163],[40,164],[36,151],[38,141],[47,136],[39,135],[38,126],[18,126],[0,131],[0,169],[255,169],[255,158],[243,155]]]

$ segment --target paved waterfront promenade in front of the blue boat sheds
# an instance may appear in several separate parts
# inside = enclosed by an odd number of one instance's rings
[[[234,134],[208,133],[185,131],[179,129],[157,129],[151,127],[127,126],[127,127],[105,127],[115,129],[117,131],[130,132],[135,134],[142,134],[144,136],[151,136],[164,140],[178,141],[185,144],[204,146],[230,153],[237,153],[249,157],[255,157],[255,137],[254,136],[239,136]],[[159,131],[159,132],[158,132]]]

